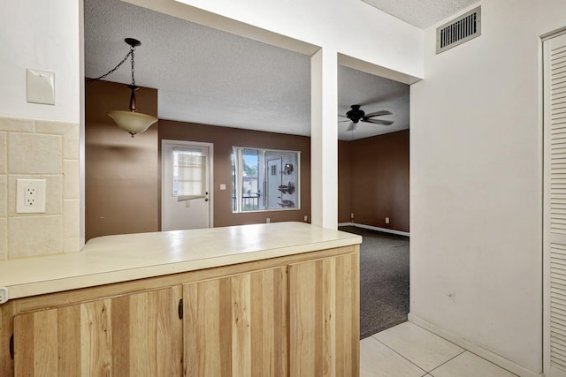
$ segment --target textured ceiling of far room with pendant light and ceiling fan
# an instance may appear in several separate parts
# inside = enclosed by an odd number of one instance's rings
[[[118,0],[85,0],[85,74],[108,72],[135,50],[135,80],[158,89],[158,117],[310,135],[310,57]],[[339,108],[387,109],[391,126],[360,124],[339,139],[409,127],[409,86],[339,66]],[[130,83],[129,60],[106,79]],[[125,98],[125,102],[128,99]],[[142,109],[140,109],[142,111]]]

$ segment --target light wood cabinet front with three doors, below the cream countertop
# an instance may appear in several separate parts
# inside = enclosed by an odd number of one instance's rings
[[[357,376],[358,253],[11,300],[0,306],[0,375]]]

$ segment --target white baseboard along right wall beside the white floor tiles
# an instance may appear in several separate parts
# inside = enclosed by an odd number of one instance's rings
[[[428,320],[423,320],[411,313],[409,313],[409,322],[412,322],[417,326],[420,326],[421,328],[425,328],[436,334],[437,336],[443,337],[447,341],[455,343],[456,345],[459,345],[460,347],[470,351],[471,353],[475,353],[480,358],[485,358],[486,360],[491,361],[493,364],[501,366],[501,368],[503,369],[507,369],[511,373],[516,373],[521,377],[544,376],[544,373],[533,372],[531,369],[527,369],[524,366],[518,365],[515,361],[509,360],[509,358],[505,358],[493,351],[489,351],[481,345],[470,342],[462,336],[459,336],[451,331],[447,331],[444,328],[440,328],[440,326],[437,326],[429,322]]]

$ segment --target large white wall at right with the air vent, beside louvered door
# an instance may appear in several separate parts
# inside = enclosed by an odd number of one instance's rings
[[[411,315],[539,373],[541,42],[562,0],[485,0],[411,87]],[[454,294],[453,297],[451,295]]]

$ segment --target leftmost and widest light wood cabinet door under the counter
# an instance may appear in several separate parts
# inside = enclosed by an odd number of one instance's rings
[[[15,375],[180,375],[176,308],[172,289],[163,289],[19,314]]]

